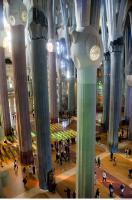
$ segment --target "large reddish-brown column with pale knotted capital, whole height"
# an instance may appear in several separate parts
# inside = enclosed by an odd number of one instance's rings
[[[10,1],[8,14],[12,34],[12,59],[20,158],[23,164],[31,164],[33,156],[25,57],[25,6],[20,1]]]

